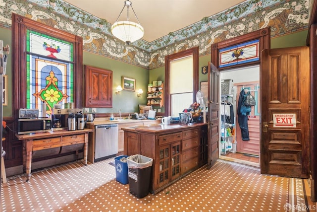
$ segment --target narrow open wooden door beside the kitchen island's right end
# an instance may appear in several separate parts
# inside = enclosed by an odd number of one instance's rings
[[[208,63],[208,167],[219,158],[220,72]]]

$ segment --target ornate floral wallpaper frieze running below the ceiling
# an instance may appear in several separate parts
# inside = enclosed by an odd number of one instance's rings
[[[0,0],[1,26],[11,27],[11,12],[81,36],[85,51],[151,70],[164,66],[168,54],[199,46],[207,55],[212,43],[261,28],[270,27],[271,37],[306,29],[309,0],[247,0],[151,43],[130,45],[111,35],[111,23],[63,0]]]

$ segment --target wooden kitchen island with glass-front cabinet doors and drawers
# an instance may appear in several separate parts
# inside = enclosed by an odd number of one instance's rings
[[[153,158],[150,192],[157,194],[207,162],[207,125],[142,125],[122,128],[124,154]]]

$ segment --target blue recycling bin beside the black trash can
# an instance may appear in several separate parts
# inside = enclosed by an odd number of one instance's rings
[[[115,179],[122,184],[129,183],[128,163],[126,159],[124,160],[124,158],[127,158],[127,157],[128,155],[120,155],[114,158]],[[122,161],[121,158],[124,161]]]

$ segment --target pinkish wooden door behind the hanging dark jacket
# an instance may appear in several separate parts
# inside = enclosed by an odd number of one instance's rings
[[[242,89],[244,89],[245,92],[250,91],[256,99],[256,105],[251,107],[251,112],[248,115],[249,141],[242,140],[239,123],[238,121],[235,121],[237,126],[237,152],[260,155],[260,81],[235,83],[234,86],[237,86],[237,100],[239,99]],[[236,107],[238,107],[238,105],[236,105]],[[237,109],[235,114],[237,114]],[[238,119],[238,117],[236,118]]]

